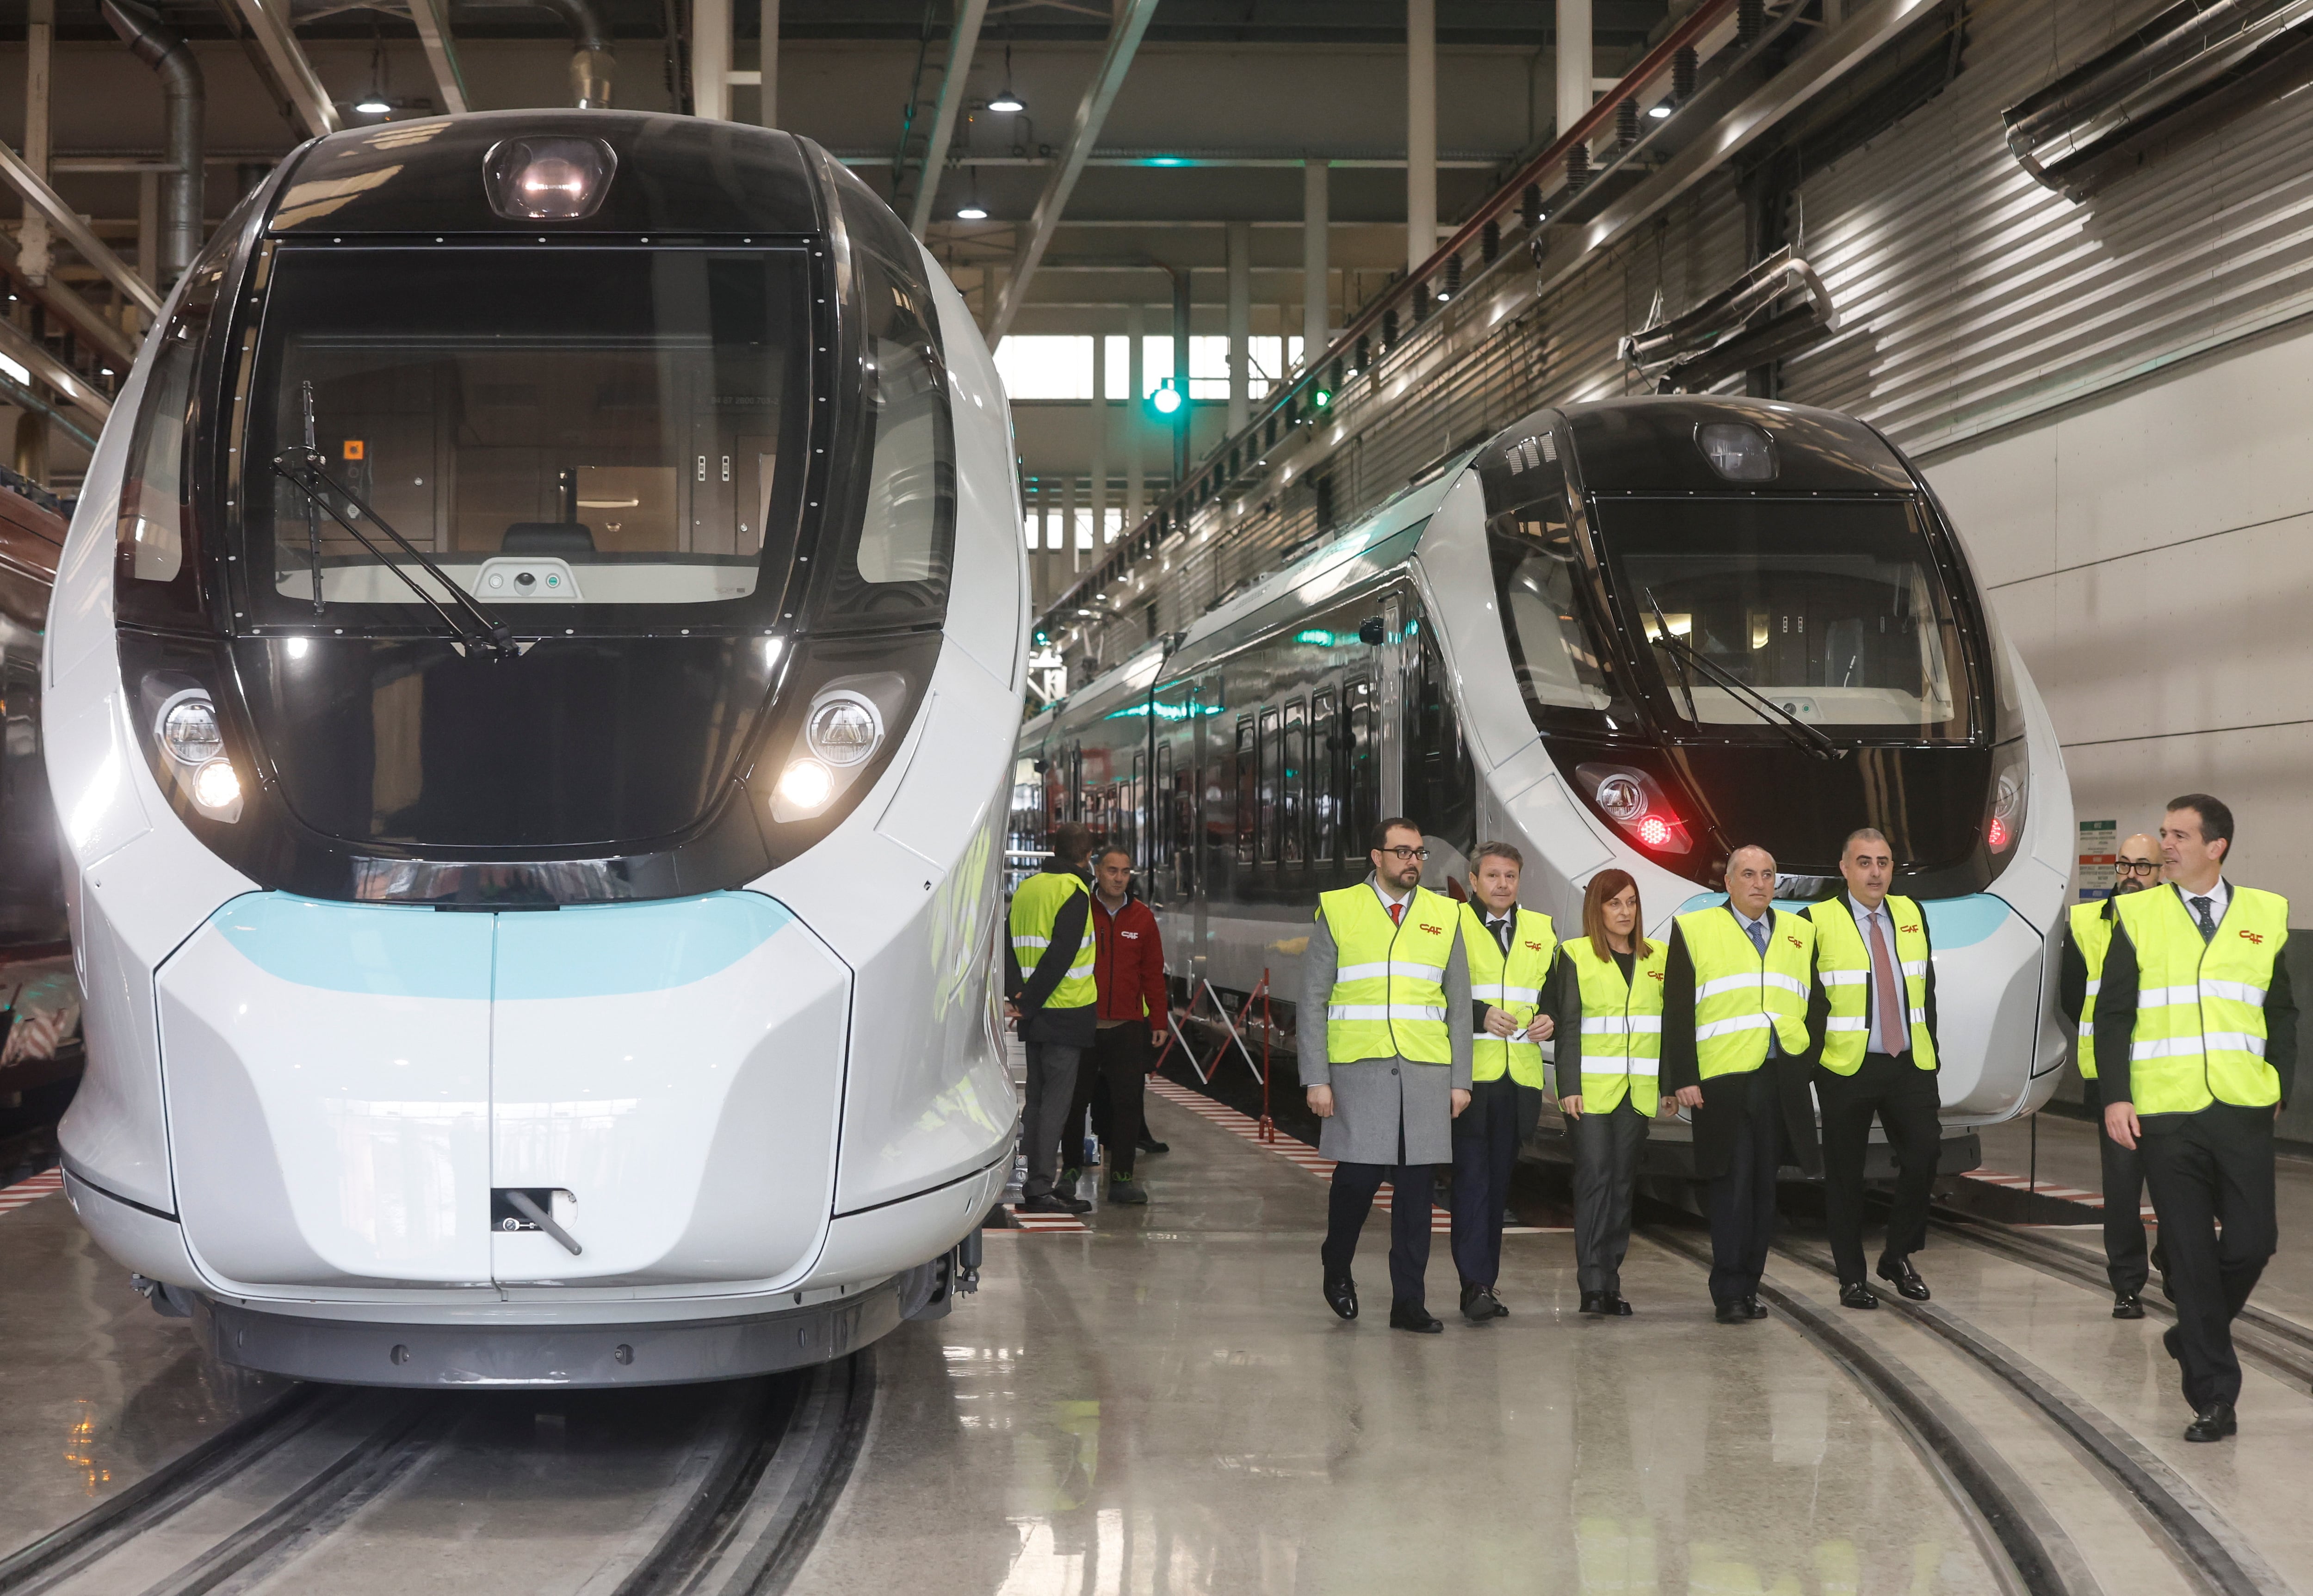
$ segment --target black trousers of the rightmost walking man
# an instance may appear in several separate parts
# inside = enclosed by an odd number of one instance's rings
[[[2274,1113],[2218,1103],[2137,1140],[2160,1217],[2160,1284],[2177,1305],[2183,1399],[2241,1399],[2232,1321],[2281,1244]],[[2218,1235],[2223,1226],[2223,1235]]]

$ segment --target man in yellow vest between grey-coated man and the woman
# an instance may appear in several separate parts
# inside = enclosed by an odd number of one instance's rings
[[[1473,1325],[1510,1311],[1494,1291],[1501,1214],[1517,1145],[1543,1113],[1543,1043],[1554,1025],[1540,1006],[1559,937],[1547,914],[1517,907],[1524,867],[1508,842],[1480,844],[1469,867],[1478,902],[1462,904],[1473,1008],[1469,1108],[1453,1122],[1453,1263]]]

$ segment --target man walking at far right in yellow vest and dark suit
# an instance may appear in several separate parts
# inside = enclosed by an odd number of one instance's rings
[[[2167,881],[2116,900],[2096,992],[2105,1131],[2142,1150],[2160,1219],[2160,1286],[2177,1305],[2163,1342],[2193,1404],[2186,1441],[2239,1429],[2232,1321],[2281,1240],[2274,1120],[2297,1073],[2281,962],[2290,900],[2227,881],[2230,854],[2230,807],[2209,793],[2170,800]]]

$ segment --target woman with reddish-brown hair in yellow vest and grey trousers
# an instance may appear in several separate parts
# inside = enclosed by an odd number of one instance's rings
[[[1670,948],[1640,934],[1638,881],[1601,870],[1582,891],[1582,934],[1559,948],[1559,1113],[1575,1145],[1575,1281],[1584,1314],[1628,1314],[1631,1187],[1647,1122],[1663,1103],[1663,967]]]

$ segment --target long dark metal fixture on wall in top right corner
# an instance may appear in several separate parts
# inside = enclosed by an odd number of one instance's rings
[[[2024,171],[2086,199],[2313,79],[2313,0],[2181,0],[2001,113]]]

